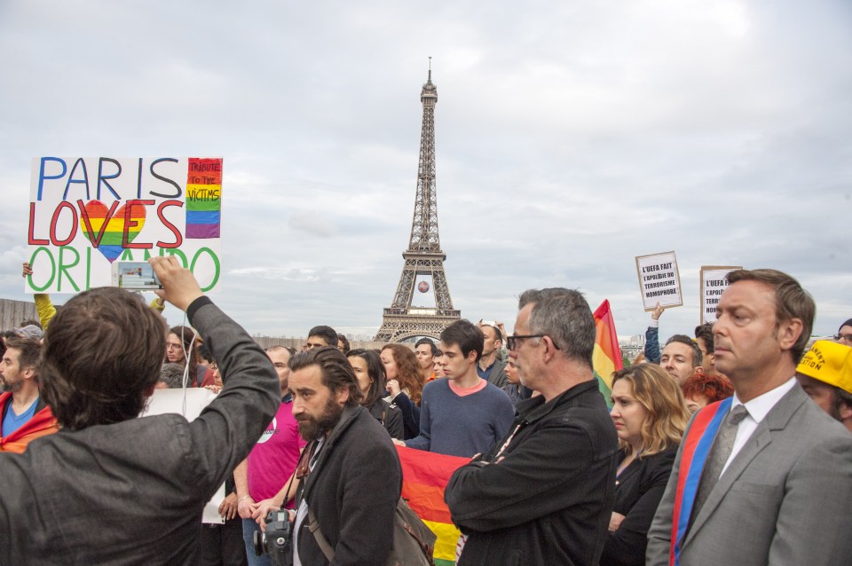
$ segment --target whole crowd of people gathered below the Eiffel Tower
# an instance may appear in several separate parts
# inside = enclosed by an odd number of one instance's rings
[[[469,460],[444,493],[461,565],[852,554],[852,319],[810,340],[816,305],[785,273],[732,271],[717,319],[662,348],[658,305],[604,399],[571,289],[520,295],[511,335],[459,320],[352,350],[314,326],[302,351],[264,351],[177,260],[151,263],[154,303],[36,295],[39,319],[4,334],[0,563],[280,563],[254,541],[283,509],[288,563],[383,564],[394,444]],[[191,326],[167,327],[163,301]],[[216,396],[192,422],[136,418],[157,388]]]

